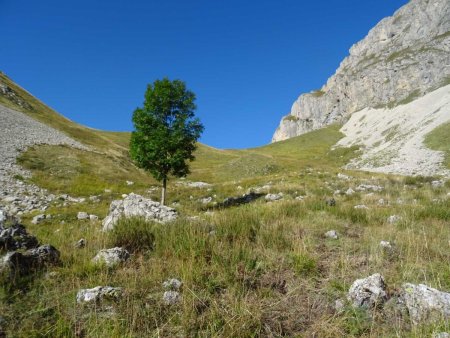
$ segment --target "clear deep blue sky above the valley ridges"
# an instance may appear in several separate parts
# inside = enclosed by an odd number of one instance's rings
[[[201,141],[270,142],[303,92],[407,0],[0,0],[0,70],[86,126],[132,130],[147,83],[197,95]]]

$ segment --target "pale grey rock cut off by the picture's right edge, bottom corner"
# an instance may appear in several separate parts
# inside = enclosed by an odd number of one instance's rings
[[[450,319],[450,293],[424,284],[405,283],[400,300],[408,309],[413,324]]]

